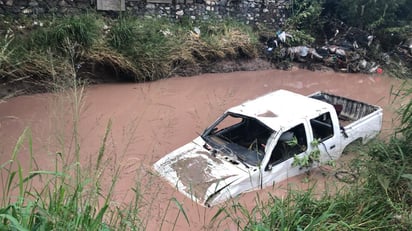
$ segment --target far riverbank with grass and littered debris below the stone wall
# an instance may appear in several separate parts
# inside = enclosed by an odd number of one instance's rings
[[[89,84],[148,82],[292,67],[410,77],[412,56],[407,41],[385,52],[367,31],[344,27],[325,43],[314,31],[295,28],[296,23],[285,31],[274,31],[232,19],[171,23],[127,15],[106,18],[96,12],[4,20],[0,98],[70,87],[73,77]],[[365,40],[369,37],[370,41]],[[405,32],[399,39],[406,37]]]

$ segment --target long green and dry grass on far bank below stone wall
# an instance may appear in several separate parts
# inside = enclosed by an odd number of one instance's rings
[[[47,68],[50,57],[61,59],[54,68],[64,70],[68,65],[64,61],[69,56],[67,46],[72,45],[79,67],[103,65],[113,69],[118,79],[134,81],[167,78],[188,65],[254,58],[258,53],[252,28],[231,19],[172,23],[127,14],[107,19],[90,12],[38,21],[43,21],[43,26],[33,26],[30,21],[22,26],[25,29],[11,25],[13,41],[0,44],[8,51],[2,56],[7,54],[9,60],[13,58],[19,64],[13,66],[19,70],[12,76],[15,79],[29,76],[47,80],[52,75]],[[84,73],[93,71],[85,69]]]

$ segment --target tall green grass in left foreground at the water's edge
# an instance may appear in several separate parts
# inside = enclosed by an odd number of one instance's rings
[[[114,158],[113,155],[122,159],[129,145],[122,147],[121,153],[108,155],[113,126],[111,120],[108,121],[96,150],[96,157],[90,159],[89,165],[85,165],[79,132],[86,94],[85,84],[78,79],[76,73],[74,48],[67,46],[67,49],[65,52],[70,56],[68,62],[71,66],[66,71],[70,73],[70,81],[56,82],[54,85],[58,97],[53,108],[61,112],[56,113],[56,120],[65,121],[67,116],[70,117],[71,122],[64,127],[69,126],[71,131],[67,135],[60,130],[64,128],[55,127],[58,131],[54,138],[61,151],[51,155],[54,161],[52,169],[41,169],[37,165],[40,159],[33,151],[29,128],[18,138],[10,160],[0,165],[0,229],[145,230],[150,219],[150,214],[146,213],[150,211],[146,212],[143,208],[150,207],[147,203],[151,200],[153,203],[156,195],[144,195],[146,185],[143,184],[150,180],[143,181],[139,178],[142,172],[146,172],[142,167],[136,171],[136,185],[130,188],[133,195],[130,203],[126,206],[116,203],[114,194],[122,166],[118,162],[111,163],[110,160]],[[64,110],[60,110],[62,108]],[[131,132],[134,133],[135,128],[131,128]],[[24,157],[20,156],[21,152],[29,158],[28,169],[22,167],[20,161]],[[182,205],[173,198],[170,202],[170,208],[178,208],[176,220],[181,214],[187,220]]]

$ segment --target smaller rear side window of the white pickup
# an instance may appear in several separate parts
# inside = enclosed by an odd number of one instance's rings
[[[324,141],[333,136],[333,125],[329,112],[311,119],[310,126],[312,127],[314,139]]]

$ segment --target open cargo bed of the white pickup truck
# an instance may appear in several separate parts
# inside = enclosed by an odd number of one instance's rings
[[[325,92],[317,92],[309,97],[332,104],[337,111],[340,125],[343,127],[380,110],[374,105]]]

